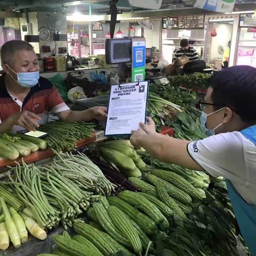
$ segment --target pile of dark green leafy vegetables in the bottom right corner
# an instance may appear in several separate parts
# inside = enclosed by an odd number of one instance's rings
[[[214,188],[206,195],[206,201],[193,207],[189,222],[174,218],[169,237],[162,239],[158,250],[174,255],[250,255],[243,238],[236,236],[227,191]]]

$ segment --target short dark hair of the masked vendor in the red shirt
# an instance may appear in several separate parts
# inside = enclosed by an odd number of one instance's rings
[[[1,48],[1,61],[2,64],[10,63],[10,59],[15,51],[34,51],[34,47],[26,41],[11,40],[3,44]]]

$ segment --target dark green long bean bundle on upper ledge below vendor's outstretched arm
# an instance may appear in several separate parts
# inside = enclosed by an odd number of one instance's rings
[[[77,140],[91,137],[93,127],[93,123],[58,120],[43,124],[38,130],[48,133],[48,136],[44,140],[54,153],[59,153],[64,150],[72,150]]]

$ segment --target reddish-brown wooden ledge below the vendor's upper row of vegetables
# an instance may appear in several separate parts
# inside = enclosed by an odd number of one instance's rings
[[[95,132],[92,132],[92,136],[90,138],[77,141],[75,147],[76,148],[83,147],[85,145],[88,145],[94,142],[95,140],[96,140]],[[23,157],[23,159],[25,163],[29,164],[29,163],[33,163],[36,161],[40,161],[40,160],[52,157],[54,155],[55,154],[51,149],[45,149],[45,150],[38,150],[35,153],[30,154],[29,156]],[[20,160],[21,160],[21,157],[15,159],[14,161],[7,158],[1,158],[0,168],[6,167],[6,165],[15,166],[16,165],[15,162],[20,162]]]

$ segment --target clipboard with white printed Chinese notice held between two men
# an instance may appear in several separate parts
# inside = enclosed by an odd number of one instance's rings
[[[145,123],[148,81],[112,85],[105,135],[131,134]]]

